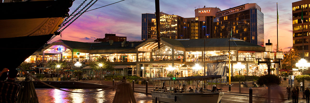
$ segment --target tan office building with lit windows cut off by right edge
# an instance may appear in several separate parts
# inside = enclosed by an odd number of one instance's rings
[[[308,6],[310,0],[302,0],[292,3],[292,20],[293,20],[293,47],[300,53],[300,57],[309,60],[309,23],[308,23]],[[303,28],[301,22],[301,9],[303,8]],[[302,33],[303,32],[303,33]],[[302,35],[303,34],[303,35]],[[303,40],[302,40],[303,39]],[[304,47],[303,47],[304,45]]]

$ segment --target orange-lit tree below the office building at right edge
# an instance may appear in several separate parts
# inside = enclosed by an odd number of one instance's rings
[[[292,47],[293,48],[293,47]],[[284,51],[284,59],[282,62],[282,68],[290,70],[291,68],[296,68],[295,64],[300,60],[299,52],[297,49],[293,48],[290,51]]]

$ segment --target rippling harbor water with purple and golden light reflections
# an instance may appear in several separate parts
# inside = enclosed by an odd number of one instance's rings
[[[101,89],[64,89],[74,92],[91,92]],[[58,89],[36,89],[39,103],[112,103],[115,90],[96,93],[69,93]],[[152,96],[134,93],[137,103],[152,103]]]

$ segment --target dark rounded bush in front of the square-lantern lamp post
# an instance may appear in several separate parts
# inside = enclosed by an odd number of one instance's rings
[[[260,78],[257,80],[257,84],[260,86],[267,85],[279,85],[280,84],[280,78],[276,76],[275,74],[268,74],[260,76]]]

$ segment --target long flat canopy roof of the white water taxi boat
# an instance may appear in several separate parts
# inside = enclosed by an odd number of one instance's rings
[[[222,78],[221,75],[209,75],[209,76],[188,76],[188,77],[161,77],[161,78],[152,78],[153,80],[211,80]]]

